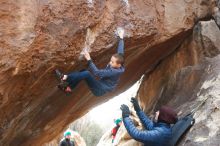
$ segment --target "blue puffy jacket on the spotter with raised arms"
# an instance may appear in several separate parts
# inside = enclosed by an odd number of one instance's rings
[[[123,119],[125,128],[132,138],[144,143],[145,146],[169,146],[168,143],[172,137],[169,124],[154,123],[143,111],[137,112],[137,115],[146,130],[141,131],[137,129],[129,117]]]

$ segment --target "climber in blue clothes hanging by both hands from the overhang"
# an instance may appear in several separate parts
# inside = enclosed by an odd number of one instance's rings
[[[111,60],[105,69],[98,69],[93,63],[88,51],[84,51],[83,55],[88,61],[89,70],[80,72],[72,72],[64,75],[59,70],[56,70],[61,83],[58,87],[67,93],[72,92],[76,85],[85,80],[90,90],[95,96],[102,96],[107,92],[115,89],[119,82],[121,74],[125,71],[124,68],[124,30],[118,30],[119,43],[117,53],[111,57]],[[99,78],[99,79],[96,79]]]

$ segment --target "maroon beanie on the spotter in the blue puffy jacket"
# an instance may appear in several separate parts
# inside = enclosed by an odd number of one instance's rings
[[[177,113],[172,108],[168,106],[162,106],[159,111],[159,122],[164,122],[167,124],[175,124],[177,122]]]

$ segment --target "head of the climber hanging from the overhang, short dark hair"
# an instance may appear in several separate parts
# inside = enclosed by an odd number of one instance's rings
[[[121,54],[114,54],[109,62],[111,67],[120,68],[124,64],[124,57]]]

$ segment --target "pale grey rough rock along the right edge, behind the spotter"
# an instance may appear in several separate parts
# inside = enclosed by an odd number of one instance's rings
[[[181,110],[186,107],[193,109],[198,103],[203,106],[195,113],[196,123],[186,135],[180,145],[193,146],[219,146],[220,145],[220,30],[214,21],[201,22],[201,37],[203,49],[205,49],[206,62],[208,66],[204,69],[204,82],[199,90],[194,91],[196,100],[185,103]],[[196,95],[195,95],[196,93]]]

